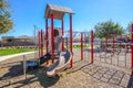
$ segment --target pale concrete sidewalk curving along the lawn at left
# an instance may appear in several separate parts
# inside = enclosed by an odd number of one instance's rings
[[[34,53],[34,52],[27,52],[27,53],[13,54],[13,55],[0,56],[0,62],[2,62],[4,59],[17,57],[17,56],[21,56],[21,55],[32,54],[32,53]]]

